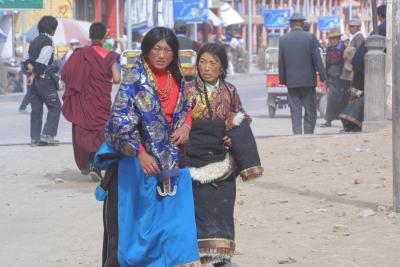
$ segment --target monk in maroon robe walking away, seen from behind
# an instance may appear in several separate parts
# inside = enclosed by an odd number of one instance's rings
[[[112,84],[120,82],[117,54],[103,48],[107,29],[103,23],[90,26],[91,45],[76,48],[64,65],[62,112],[72,123],[75,162],[83,175],[99,181],[101,173],[92,159],[104,142],[104,127],[111,111]]]

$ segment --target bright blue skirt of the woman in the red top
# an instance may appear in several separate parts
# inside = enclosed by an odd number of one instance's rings
[[[171,178],[176,195],[162,197],[157,177],[145,176],[136,158],[121,156],[113,166],[96,190],[106,200],[103,266],[200,266],[189,170]]]

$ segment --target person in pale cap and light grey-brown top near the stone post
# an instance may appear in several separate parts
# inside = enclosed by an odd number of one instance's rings
[[[353,80],[353,66],[351,64],[351,60],[353,59],[357,48],[365,40],[364,34],[361,32],[361,24],[362,23],[360,19],[352,19],[349,22],[350,44],[349,46],[347,46],[343,53],[344,68],[341,75],[341,78],[343,80]]]

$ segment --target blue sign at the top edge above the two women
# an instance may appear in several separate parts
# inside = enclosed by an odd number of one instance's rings
[[[208,0],[174,0],[174,21],[207,22],[207,11]]]

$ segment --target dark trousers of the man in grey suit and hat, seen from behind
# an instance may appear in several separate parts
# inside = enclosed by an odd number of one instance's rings
[[[302,134],[302,128],[304,128],[304,134],[313,134],[317,122],[317,93],[315,88],[289,88],[288,100],[293,134]],[[303,107],[305,110],[304,124],[302,123]]]

